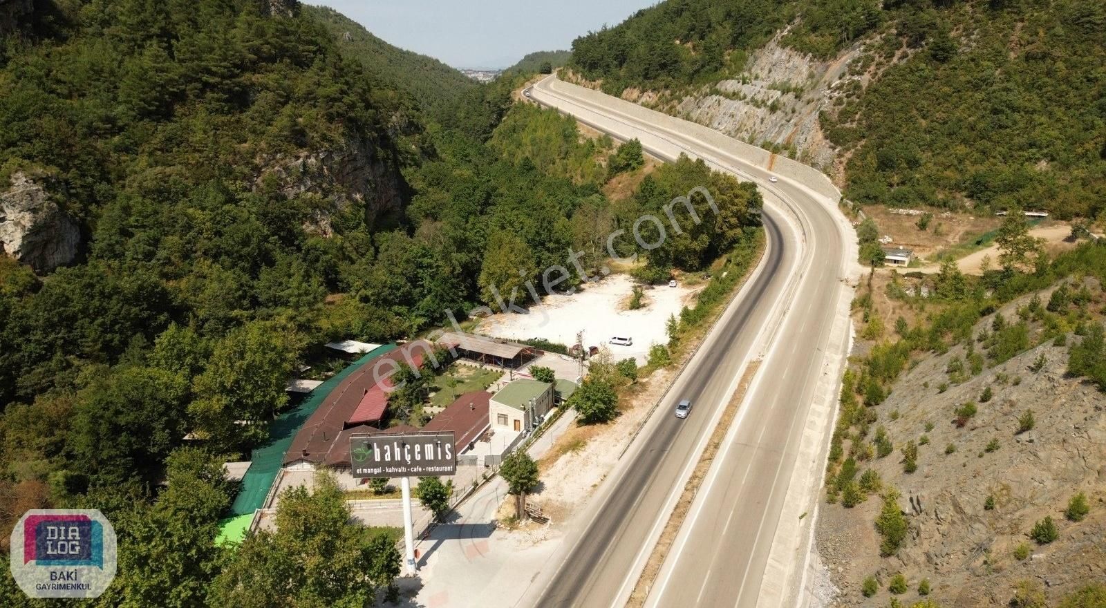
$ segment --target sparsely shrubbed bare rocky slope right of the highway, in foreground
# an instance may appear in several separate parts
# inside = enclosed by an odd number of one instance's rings
[[[817,532],[839,604],[1102,599],[1081,589],[1106,581],[1104,281],[1089,242],[1033,272],[949,263],[858,290]]]

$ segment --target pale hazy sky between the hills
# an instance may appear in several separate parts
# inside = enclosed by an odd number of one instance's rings
[[[533,51],[615,25],[657,0],[305,0],[331,7],[396,46],[453,67],[508,67]]]

